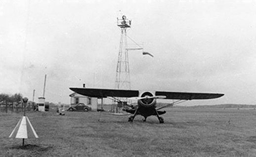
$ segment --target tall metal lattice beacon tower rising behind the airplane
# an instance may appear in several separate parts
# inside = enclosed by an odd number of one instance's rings
[[[119,45],[117,69],[116,69],[116,89],[130,89],[129,58],[127,47],[127,29],[130,28],[131,21],[125,15],[122,19],[117,19],[117,26],[121,28],[121,39]]]

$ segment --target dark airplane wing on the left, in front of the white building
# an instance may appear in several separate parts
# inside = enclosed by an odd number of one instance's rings
[[[106,97],[135,97],[139,95],[138,90],[122,90],[122,89],[99,89],[99,88],[69,88],[72,91],[90,97],[106,98]]]

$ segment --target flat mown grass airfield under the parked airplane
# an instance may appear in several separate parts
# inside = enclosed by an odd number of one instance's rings
[[[169,108],[133,123],[104,112],[27,113],[38,139],[8,138],[22,114],[0,113],[1,157],[256,157],[256,110]]]

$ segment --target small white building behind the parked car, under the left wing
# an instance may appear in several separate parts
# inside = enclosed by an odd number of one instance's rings
[[[80,95],[78,93],[72,93],[70,96],[70,105],[77,105],[79,103],[84,103],[91,108],[92,111],[97,111],[98,108],[98,98],[88,97]]]

